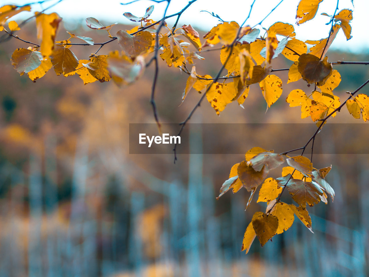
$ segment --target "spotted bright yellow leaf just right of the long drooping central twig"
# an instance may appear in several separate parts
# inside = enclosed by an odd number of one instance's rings
[[[232,102],[237,92],[233,83],[215,82],[210,86],[210,89],[206,93],[206,98],[215,112],[219,115],[219,113],[224,110],[225,106]]]

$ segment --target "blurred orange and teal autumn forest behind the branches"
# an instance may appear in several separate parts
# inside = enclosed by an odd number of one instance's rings
[[[71,21],[72,22],[72,21]],[[106,41],[106,32],[86,30],[67,21],[65,30]],[[106,22],[108,23],[108,22]],[[191,22],[180,22],[190,24]],[[217,24],[215,22],[215,24]],[[116,25],[114,31],[132,26]],[[268,26],[266,26],[268,27]],[[203,35],[208,30],[199,30]],[[17,33],[36,40],[34,22]],[[317,38],[314,38],[317,39]],[[308,208],[311,233],[299,219],[282,235],[261,247],[256,239],[250,252],[241,252],[246,226],[264,203],[256,196],[245,211],[249,193],[227,192],[215,197],[235,163],[249,148],[273,147],[283,138],[273,136],[250,145],[238,133],[217,140],[229,141],[239,154],[130,154],[129,124],[154,123],[149,103],[152,67],[131,86],[113,82],[83,85],[78,76],[56,76],[53,69],[35,83],[19,76],[10,57],[29,45],[10,39],[0,44],[0,276],[368,276],[369,129],[337,137],[329,128],[318,136],[320,147],[342,153],[336,141],[353,144],[356,153],[317,154],[315,168],[332,164],[327,181],[335,201]],[[86,59],[97,46],[73,46]],[[111,43],[100,50],[118,49]],[[217,51],[201,54],[196,72],[214,76],[221,66]],[[369,61],[368,52],[328,52],[329,61]],[[187,75],[159,62],[156,104],[163,123],[178,123],[201,97],[191,90],[182,105]],[[273,68],[287,68],[283,56]],[[335,94],[345,99],[368,79],[364,65],[337,65],[342,76]],[[244,103],[229,104],[220,116],[206,101],[192,123],[305,123],[300,109],[285,102],[295,88],[310,92],[302,81],[287,84],[287,71],[276,72],[283,94],[266,112],[258,86],[252,85]],[[368,93],[368,88],[361,90]],[[179,106],[180,105],[180,106]],[[363,123],[342,108],[328,124]],[[328,126],[327,124],[327,126]],[[278,124],[275,124],[278,126]],[[211,146],[201,129],[188,130],[192,153]],[[258,134],[255,134],[258,136]],[[265,136],[265,134],[263,135]],[[306,141],[309,137],[303,138]],[[268,141],[268,143],[266,143]],[[285,150],[290,150],[286,141]],[[168,146],[172,147],[172,146]],[[242,150],[243,149],[243,150]],[[296,154],[297,155],[297,154]],[[270,177],[279,177],[272,172]],[[282,201],[292,203],[288,195]]]

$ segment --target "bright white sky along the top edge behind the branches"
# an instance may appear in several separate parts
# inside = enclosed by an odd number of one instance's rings
[[[14,4],[25,4],[32,0],[13,0]],[[256,0],[251,17],[245,25],[255,25],[264,18],[280,0]],[[133,23],[123,16],[124,12],[130,12],[135,16],[143,16],[147,7],[154,5],[155,9],[151,14],[152,19],[159,20],[163,16],[166,2],[154,3],[148,0],[141,0],[129,5],[121,5],[119,0],[63,0],[48,12],[55,11],[64,20],[75,19],[84,21],[86,17],[95,17],[102,24],[112,24],[115,22],[121,24]],[[125,0],[128,2],[128,0]],[[1,5],[10,4],[6,0],[0,0]],[[42,7],[47,7],[52,1],[46,2]],[[180,11],[188,0],[172,0],[167,14],[173,14]],[[252,0],[197,0],[193,3],[181,16],[180,24],[191,24],[196,27],[210,30],[211,27],[219,22],[217,18],[210,14],[200,12],[207,10],[218,14],[225,21],[237,21],[241,24],[249,13],[249,8]],[[272,14],[263,22],[262,27],[268,28],[276,21],[293,24],[296,31],[296,38],[299,40],[319,40],[328,36],[330,25],[325,25],[329,21],[329,17],[321,16],[321,13],[333,14],[336,7],[336,0],[324,0],[320,6],[317,16],[304,24],[297,26],[296,23],[296,8],[299,0],[284,0]],[[354,0],[355,7],[352,6],[350,0],[340,0],[339,10],[349,8],[353,10],[354,19],[351,21],[352,38],[346,41],[342,31],[339,31],[331,48],[341,49],[352,52],[368,52],[369,51],[369,36],[366,35],[368,25],[368,10],[369,1]],[[39,5],[34,5],[34,10],[39,10]],[[25,14],[25,13],[22,13]],[[176,17],[167,20],[167,23],[173,24]],[[68,26],[68,25],[67,25]],[[261,26],[257,26],[260,28]],[[114,29],[113,29],[114,32]],[[263,34],[263,33],[261,33]],[[79,35],[83,35],[82,33]]]

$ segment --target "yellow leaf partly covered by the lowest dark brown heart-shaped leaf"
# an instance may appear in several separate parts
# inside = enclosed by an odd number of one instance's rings
[[[275,201],[268,203],[266,210],[269,211],[269,207],[272,207],[274,203]],[[278,228],[276,231],[277,234],[282,234],[292,226],[294,212],[290,205],[283,202],[278,202],[276,205],[274,205],[272,211],[270,211],[270,214],[278,218]]]

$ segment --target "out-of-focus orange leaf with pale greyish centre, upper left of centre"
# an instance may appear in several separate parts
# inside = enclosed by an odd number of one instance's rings
[[[107,63],[110,76],[118,86],[133,83],[145,70],[144,57],[130,58],[123,51],[120,54],[118,50],[109,53]]]

